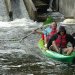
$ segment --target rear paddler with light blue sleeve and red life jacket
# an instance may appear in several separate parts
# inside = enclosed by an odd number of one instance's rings
[[[48,40],[57,33],[57,23],[52,22],[49,27],[47,27],[44,31],[35,31],[38,34],[42,34],[42,39],[44,40],[44,44],[47,47]]]

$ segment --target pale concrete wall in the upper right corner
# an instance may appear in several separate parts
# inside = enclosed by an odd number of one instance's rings
[[[75,0],[59,0],[59,12],[66,17],[75,18]]]

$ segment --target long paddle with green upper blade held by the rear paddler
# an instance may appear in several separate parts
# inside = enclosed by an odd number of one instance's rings
[[[53,18],[50,17],[50,16],[48,16],[47,19],[46,19],[46,21],[43,23],[43,25],[42,25],[41,27],[39,27],[39,28],[36,28],[35,30],[38,30],[38,29],[43,28],[43,27],[46,27],[46,26],[50,25],[49,23],[52,23],[52,22],[53,22]],[[20,40],[20,42],[21,42],[22,40],[24,40],[25,38],[27,38],[28,36],[30,36],[32,33],[33,33],[33,32],[30,32],[28,35],[26,35],[25,37],[23,37],[23,38]]]

